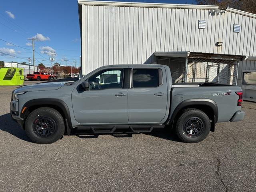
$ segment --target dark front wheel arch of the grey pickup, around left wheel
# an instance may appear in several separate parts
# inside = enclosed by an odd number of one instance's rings
[[[22,110],[24,110],[24,111],[23,111],[23,113],[20,114],[20,117],[23,118],[24,122],[25,122],[26,117],[33,110],[35,110],[37,108],[40,108],[40,107],[51,107],[51,108],[56,109],[62,115],[67,130],[70,127],[72,127],[70,112],[69,112],[68,106],[64,101],[62,101],[60,99],[47,98],[47,99],[33,99],[33,100],[30,100],[22,106]]]

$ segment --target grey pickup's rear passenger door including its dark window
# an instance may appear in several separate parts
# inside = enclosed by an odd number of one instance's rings
[[[130,123],[159,123],[168,102],[164,67],[134,67],[130,72],[128,118]]]

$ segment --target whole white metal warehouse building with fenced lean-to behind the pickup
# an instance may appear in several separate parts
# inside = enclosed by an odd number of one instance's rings
[[[238,84],[245,97],[256,99],[255,14],[218,6],[87,0],[78,0],[78,10],[82,75],[111,64],[164,64],[174,83]]]

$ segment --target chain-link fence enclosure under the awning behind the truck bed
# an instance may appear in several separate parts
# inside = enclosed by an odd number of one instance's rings
[[[161,58],[158,64],[168,65],[173,83],[203,83],[236,85],[238,62],[236,60],[221,60],[207,58]],[[186,76],[186,78],[185,78]]]

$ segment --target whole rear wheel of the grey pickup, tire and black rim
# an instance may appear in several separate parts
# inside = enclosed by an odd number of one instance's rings
[[[201,110],[191,108],[183,111],[176,123],[176,134],[187,143],[197,143],[206,138],[211,128],[209,117]]]

